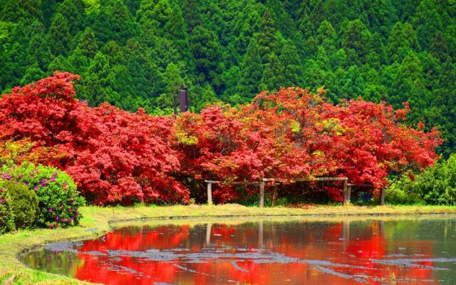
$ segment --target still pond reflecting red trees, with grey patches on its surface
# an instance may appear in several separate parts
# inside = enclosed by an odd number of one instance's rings
[[[22,261],[103,284],[456,284],[455,216],[338,219],[120,224]]]

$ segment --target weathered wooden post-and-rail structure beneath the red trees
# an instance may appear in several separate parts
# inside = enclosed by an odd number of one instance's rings
[[[254,185],[259,186],[259,207],[264,207],[264,187],[266,186],[266,182],[279,182],[280,180],[277,178],[261,178],[259,182],[222,182],[217,180],[204,180],[207,183],[207,204],[212,204],[212,184],[226,184],[226,185]],[[348,177],[314,177],[314,178],[301,178],[294,180],[295,182],[318,182],[318,181],[343,181],[343,199],[342,204],[346,206],[350,204],[350,197],[351,197],[351,188],[352,187],[373,187],[373,185],[356,185],[348,183]],[[272,185],[274,187],[274,191],[272,194],[272,205],[274,206],[276,199],[277,199],[277,183]],[[382,191],[380,195],[380,203],[384,204],[385,202],[385,192]]]

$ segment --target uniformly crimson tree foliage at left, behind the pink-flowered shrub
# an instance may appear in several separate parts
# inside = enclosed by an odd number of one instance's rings
[[[30,138],[38,162],[66,170],[96,204],[188,202],[170,172],[172,120],[108,104],[90,108],[73,98],[78,76],[54,73],[0,100],[1,140]],[[43,151],[46,150],[46,151]]]

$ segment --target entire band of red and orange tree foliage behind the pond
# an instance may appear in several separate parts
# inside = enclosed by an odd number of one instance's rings
[[[4,95],[0,145],[31,142],[26,157],[66,170],[96,204],[189,202],[177,172],[227,182],[336,176],[381,188],[390,172],[432,165],[441,142],[437,130],[403,124],[408,105],[332,105],[322,93],[283,88],[240,108],[214,105],[174,119],[108,104],[90,108],[73,97],[77,79],[54,73]],[[328,193],[340,199],[336,190]],[[224,185],[214,190],[220,202],[241,196]]]

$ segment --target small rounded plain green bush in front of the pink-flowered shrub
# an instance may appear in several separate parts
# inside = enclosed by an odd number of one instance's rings
[[[14,214],[14,224],[17,229],[31,227],[36,222],[38,214],[38,197],[35,191],[24,183],[14,180],[1,180],[1,187],[6,189],[10,197],[11,211]]]

